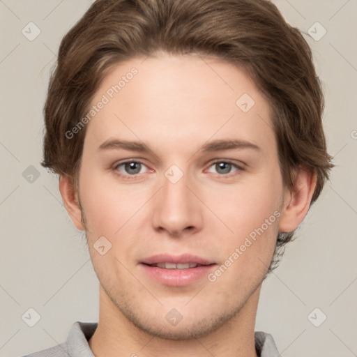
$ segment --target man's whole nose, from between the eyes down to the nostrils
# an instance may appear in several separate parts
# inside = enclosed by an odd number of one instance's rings
[[[183,229],[202,225],[202,215],[197,197],[188,189],[190,175],[172,165],[162,179],[162,189],[155,201],[153,225],[179,235]],[[187,187],[188,186],[188,187]]]

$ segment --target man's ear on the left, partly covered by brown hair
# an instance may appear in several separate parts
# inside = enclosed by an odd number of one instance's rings
[[[63,204],[75,227],[84,231],[85,227],[82,221],[82,212],[79,206],[78,194],[75,192],[73,179],[69,176],[61,176],[59,178],[59,191],[61,192]]]

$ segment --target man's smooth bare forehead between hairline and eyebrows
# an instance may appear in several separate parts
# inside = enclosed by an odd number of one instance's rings
[[[203,144],[210,137],[274,141],[270,109],[255,83],[213,57],[157,54],[119,63],[91,105],[100,102],[86,142],[120,137],[179,149],[180,142]]]

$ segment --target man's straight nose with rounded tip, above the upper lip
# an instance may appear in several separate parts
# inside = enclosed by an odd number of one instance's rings
[[[154,229],[176,238],[202,229],[202,203],[188,175],[183,174],[176,183],[165,176],[162,181],[152,207]]]

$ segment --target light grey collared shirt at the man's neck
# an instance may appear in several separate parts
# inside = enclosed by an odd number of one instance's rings
[[[66,342],[24,357],[94,357],[88,340],[98,324],[76,321],[70,328]],[[255,331],[255,349],[260,357],[282,357],[273,336],[263,331]]]

